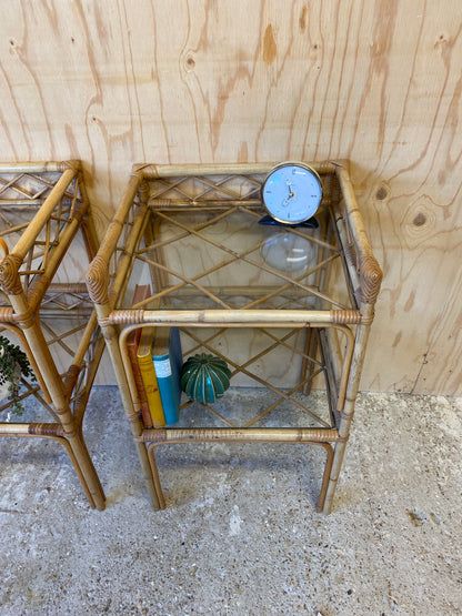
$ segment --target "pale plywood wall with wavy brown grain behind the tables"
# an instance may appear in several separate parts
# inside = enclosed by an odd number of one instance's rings
[[[133,162],[349,159],[385,274],[362,387],[462,393],[461,28],[459,0],[12,0],[1,158],[82,159],[100,233]]]

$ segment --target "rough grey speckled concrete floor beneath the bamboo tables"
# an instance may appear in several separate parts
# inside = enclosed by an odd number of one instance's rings
[[[160,448],[159,513],[116,387],[86,434],[102,513],[59,445],[0,441],[2,616],[462,614],[460,398],[360,395],[328,517],[317,447]]]

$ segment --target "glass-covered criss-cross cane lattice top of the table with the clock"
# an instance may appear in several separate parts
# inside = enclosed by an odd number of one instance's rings
[[[116,279],[118,260],[127,252],[134,213],[144,202],[143,240],[131,267],[137,263],[148,266],[155,282],[152,297],[142,307],[178,309],[184,301],[191,307],[229,310],[352,307],[351,290],[343,287],[337,296],[337,289],[330,292],[325,284],[324,272],[334,261],[340,265],[338,236],[259,224],[264,214],[260,196],[263,181],[258,174],[151,179],[145,184],[148,195],[141,198],[139,193],[129,210],[112,254],[110,281]],[[322,225],[331,224],[329,202],[328,192],[319,211]],[[232,228],[238,228],[238,233],[228,234]],[[242,240],[240,245],[237,235]],[[304,267],[290,270],[290,259],[283,254],[287,244],[295,246],[293,252],[302,246],[309,253],[303,256]],[[293,254],[290,256],[294,261]]]

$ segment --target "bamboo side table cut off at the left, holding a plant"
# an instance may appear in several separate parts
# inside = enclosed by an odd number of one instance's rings
[[[0,333],[21,346],[37,378],[22,377],[21,403],[32,396],[51,420],[2,422],[0,436],[63,445],[90,505],[103,509],[82,422],[104,341],[86,284],[69,282],[77,235],[90,262],[97,239],[79,161],[0,165],[0,238],[9,249],[0,260]],[[8,400],[0,411],[2,418]]]

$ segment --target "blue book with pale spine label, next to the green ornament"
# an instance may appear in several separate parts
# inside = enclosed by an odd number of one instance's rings
[[[172,425],[180,418],[180,371],[183,363],[178,327],[155,327],[152,360],[165,424]]]

